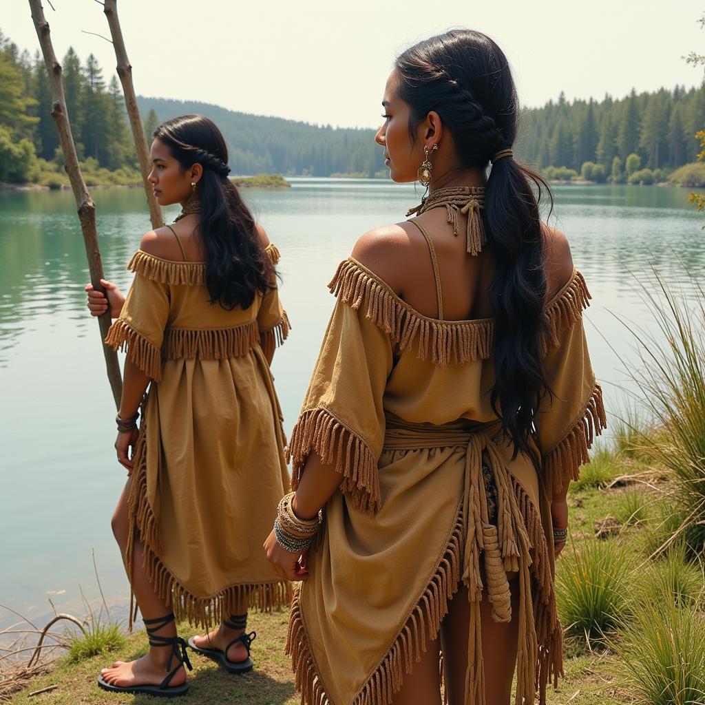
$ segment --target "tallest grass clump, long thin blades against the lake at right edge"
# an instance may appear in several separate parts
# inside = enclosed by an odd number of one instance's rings
[[[642,360],[631,374],[657,427],[642,434],[642,450],[668,469],[682,515],[675,533],[698,553],[705,548],[705,291],[689,276],[695,300],[675,293],[655,269],[653,282],[644,284],[658,335],[626,325]]]

